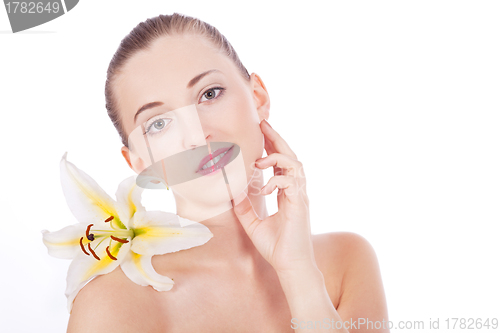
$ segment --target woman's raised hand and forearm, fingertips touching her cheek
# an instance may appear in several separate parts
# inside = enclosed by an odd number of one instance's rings
[[[348,332],[331,325],[340,322],[340,317],[314,258],[303,165],[267,121],[260,125],[268,156],[255,166],[274,168],[274,177],[261,195],[278,188],[278,212],[262,220],[248,197],[236,201],[234,212],[257,250],[276,270],[292,314],[291,328],[297,332]]]

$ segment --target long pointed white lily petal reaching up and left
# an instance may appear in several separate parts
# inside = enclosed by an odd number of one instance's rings
[[[66,202],[81,223],[104,221],[110,216],[118,216],[116,202],[85,172],[66,160],[61,159],[61,184]],[[125,228],[118,219],[115,222]]]

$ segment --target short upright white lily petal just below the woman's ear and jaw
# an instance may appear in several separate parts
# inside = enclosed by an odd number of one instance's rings
[[[144,189],[137,186],[135,176],[125,179],[118,186],[118,190],[116,191],[118,216],[127,228],[132,216],[138,211],[145,210],[141,204],[142,191]]]

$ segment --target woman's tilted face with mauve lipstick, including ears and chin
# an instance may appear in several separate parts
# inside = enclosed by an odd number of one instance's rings
[[[135,172],[159,170],[178,201],[195,205],[246,192],[263,153],[259,123],[269,115],[255,74],[245,80],[202,37],[166,36],[129,59],[113,89],[129,138],[122,152]]]

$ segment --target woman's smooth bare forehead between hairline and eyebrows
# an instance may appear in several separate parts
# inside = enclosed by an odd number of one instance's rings
[[[214,69],[214,77],[238,75],[227,56],[198,36],[162,37],[150,49],[137,53],[114,82],[125,127],[144,104],[159,100],[182,103],[177,99],[196,89],[188,88],[188,83]]]

